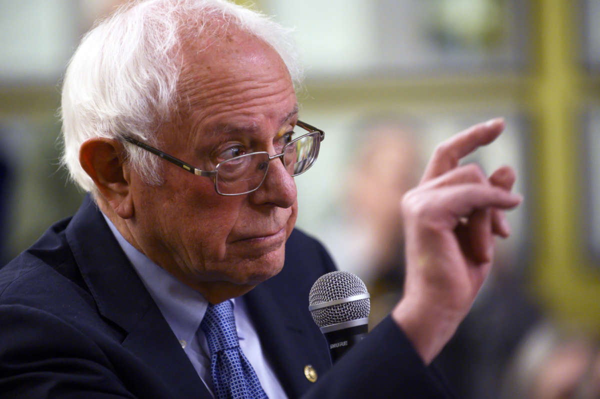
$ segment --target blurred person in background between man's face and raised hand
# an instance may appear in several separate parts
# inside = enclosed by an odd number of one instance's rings
[[[424,168],[419,127],[410,118],[368,116],[349,133],[352,163],[343,179],[341,206],[326,221],[325,242],[341,268],[365,281],[369,325],[400,300],[404,286],[404,232],[398,203]]]

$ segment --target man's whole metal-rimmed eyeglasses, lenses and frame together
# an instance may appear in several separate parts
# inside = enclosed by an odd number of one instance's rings
[[[215,190],[222,196],[239,196],[259,189],[265,181],[269,163],[275,158],[281,160],[291,176],[298,176],[313,166],[319,155],[320,144],[325,139],[325,132],[301,121],[298,121],[296,125],[307,130],[308,133],[286,143],[280,154],[269,155],[266,151],[250,152],[250,154],[239,155],[218,163],[215,170],[197,169],[133,137],[125,136],[123,139],[194,173],[194,175],[212,178],[215,182]]]

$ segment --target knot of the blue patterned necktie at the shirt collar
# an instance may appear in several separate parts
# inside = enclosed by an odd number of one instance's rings
[[[218,305],[209,304],[200,328],[206,335],[206,342],[211,353],[239,347],[231,301],[224,301]]]

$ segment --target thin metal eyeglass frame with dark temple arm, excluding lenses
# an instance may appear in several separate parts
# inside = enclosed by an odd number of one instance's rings
[[[254,188],[253,190],[248,190],[248,191],[244,191],[244,193],[236,193],[236,194],[224,194],[224,193],[219,192],[219,189],[217,187],[217,173],[218,173],[219,165],[223,162],[218,163],[217,166],[215,167],[215,170],[200,170],[194,166],[191,166],[187,162],[184,162],[178,158],[175,158],[172,155],[169,155],[166,152],[160,151],[160,149],[154,148],[146,143],[142,143],[139,140],[134,139],[133,137],[123,136],[122,139],[128,143],[131,143],[140,148],[143,148],[146,151],[152,152],[152,154],[158,155],[159,157],[163,158],[164,160],[169,161],[170,163],[175,164],[176,166],[181,167],[181,169],[187,170],[188,172],[193,173],[196,176],[206,176],[206,177],[212,178],[212,181],[214,181],[214,184],[215,184],[215,191],[217,191],[217,194],[220,194],[221,196],[241,196],[243,194],[252,193],[253,191],[256,191],[260,188],[260,186],[265,181],[266,174],[269,170],[269,164],[271,163],[272,160],[274,160],[275,158],[280,158],[281,163],[283,163],[285,165],[285,163],[283,161],[283,156],[286,153],[287,146],[292,145],[293,143],[297,142],[298,140],[303,139],[306,136],[309,136],[310,134],[319,133],[318,140],[315,140],[315,144],[314,144],[314,145],[316,145],[316,148],[314,149],[314,151],[312,151],[310,158],[308,158],[308,160],[310,161],[310,166],[308,166],[306,169],[302,170],[302,172],[300,172],[300,173],[293,173],[292,176],[301,175],[302,173],[304,173],[308,169],[310,169],[311,166],[313,166],[314,161],[317,159],[317,156],[319,155],[320,143],[325,139],[325,132],[320,129],[317,129],[316,127],[314,127],[312,125],[302,122],[302,121],[296,122],[296,125],[303,128],[304,130],[307,130],[308,133],[302,134],[302,136],[300,136],[300,137],[292,140],[291,142],[287,143],[286,145],[284,145],[282,148],[281,154],[269,155],[269,153],[266,151],[257,151],[257,152],[250,152],[250,154],[239,155],[239,157],[233,157],[230,160],[227,160],[227,161],[231,161],[236,158],[247,157],[248,155],[260,154],[260,153],[264,153],[267,155],[267,157],[269,157],[269,160],[267,162],[267,167],[265,170],[265,176],[263,176],[263,179],[262,179],[262,181],[260,181],[259,185],[257,185],[257,187]],[[227,161],[224,161],[224,162],[227,162]]]

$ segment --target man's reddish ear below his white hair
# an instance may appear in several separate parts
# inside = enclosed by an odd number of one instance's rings
[[[100,194],[119,217],[133,217],[130,169],[125,165],[125,149],[119,140],[95,137],[83,142],[79,163]]]

